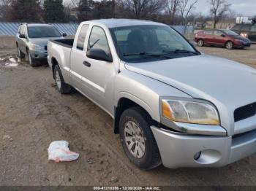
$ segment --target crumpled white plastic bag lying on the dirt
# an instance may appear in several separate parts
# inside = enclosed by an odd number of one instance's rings
[[[77,160],[79,154],[69,151],[69,143],[67,141],[53,141],[48,148],[48,160],[72,161]]]

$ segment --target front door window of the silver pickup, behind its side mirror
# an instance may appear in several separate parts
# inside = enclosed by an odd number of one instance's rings
[[[91,29],[88,50],[91,49],[101,49],[104,50],[107,55],[110,55],[110,49],[105,31],[103,31],[103,29],[99,26],[94,26]]]

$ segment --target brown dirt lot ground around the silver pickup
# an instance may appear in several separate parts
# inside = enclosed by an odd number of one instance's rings
[[[256,45],[200,50],[256,66]],[[256,155],[225,168],[140,171],[124,155],[108,114],[78,92],[60,95],[47,66],[6,66],[15,54],[0,49],[0,185],[256,185]],[[62,139],[78,160],[48,161],[50,142]]]

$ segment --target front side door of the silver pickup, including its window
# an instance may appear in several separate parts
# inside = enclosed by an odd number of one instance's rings
[[[104,50],[111,56],[108,39],[103,28],[93,26],[86,50]],[[110,100],[113,99],[113,79],[116,69],[113,63],[88,58],[85,53],[83,67],[80,69],[82,91],[100,106],[110,111]]]

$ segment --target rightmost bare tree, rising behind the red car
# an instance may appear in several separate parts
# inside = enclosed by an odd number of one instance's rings
[[[214,20],[214,28],[216,28],[219,20],[229,10],[230,4],[227,0],[209,0],[209,3],[211,5],[210,13]]]

